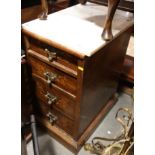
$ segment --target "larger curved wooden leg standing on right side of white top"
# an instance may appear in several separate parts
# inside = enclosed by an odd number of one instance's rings
[[[104,24],[104,29],[102,33],[102,38],[105,41],[109,41],[113,38],[112,35],[112,20],[115,14],[115,11],[117,9],[118,3],[120,0],[108,0],[108,13],[106,16],[105,24]]]

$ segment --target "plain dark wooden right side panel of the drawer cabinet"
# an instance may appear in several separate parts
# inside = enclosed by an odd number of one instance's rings
[[[84,132],[117,91],[132,26],[86,59],[79,135]]]

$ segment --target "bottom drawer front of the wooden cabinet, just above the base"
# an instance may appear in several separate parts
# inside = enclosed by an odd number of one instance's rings
[[[58,126],[71,136],[74,132],[74,122],[69,118],[65,117],[62,113],[57,110],[50,109],[42,101],[38,101],[36,105],[37,114],[39,117],[43,118],[45,121],[51,124],[52,126]]]

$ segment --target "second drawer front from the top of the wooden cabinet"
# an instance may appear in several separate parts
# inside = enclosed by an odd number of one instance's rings
[[[28,63],[31,65],[32,74],[38,75],[46,80],[47,85],[52,84],[76,95],[77,79],[68,74],[49,66],[33,56],[28,56]]]

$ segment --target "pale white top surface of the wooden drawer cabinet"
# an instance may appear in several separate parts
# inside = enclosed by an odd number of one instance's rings
[[[91,56],[105,45],[101,38],[107,7],[87,2],[48,15],[47,20],[35,19],[22,28],[83,56]],[[130,18],[129,18],[130,17]],[[117,10],[112,32],[115,36],[133,23],[132,14]]]

